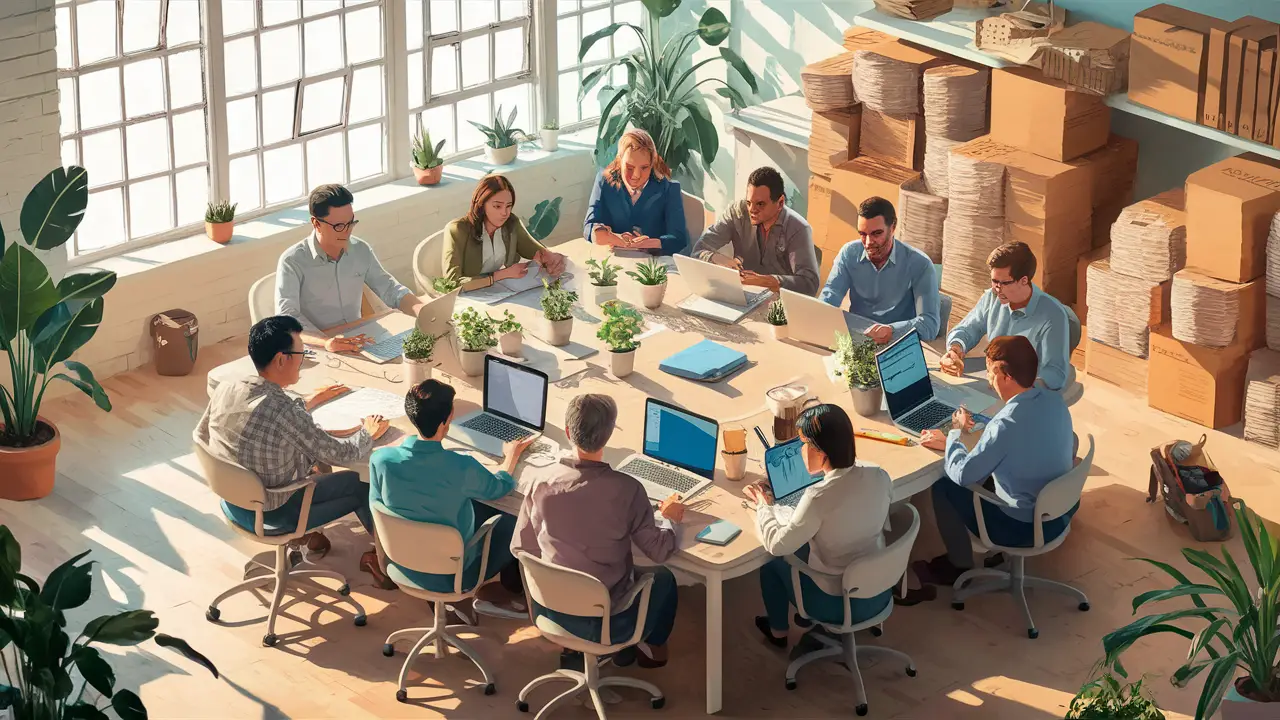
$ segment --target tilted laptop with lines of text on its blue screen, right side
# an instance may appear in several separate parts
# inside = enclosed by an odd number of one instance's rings
[[[929,428],[951,424],[956,407],[933,397],[933,380],[924,361],[920,333],[913,329],[877,352],[876,369],[879,370],[884,401],[895,425],[919,437]]]

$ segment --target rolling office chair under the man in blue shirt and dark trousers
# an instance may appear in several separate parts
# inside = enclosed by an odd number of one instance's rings
[[[1044,489],[1036,497],[1036,541],[1032,547],[1002,547],[991,542],[991,538],[987,536],[987,523],[982,515],[982,501],[986,500],[1006,507],[1007,503],[996,497],[991,491],[982,487],[972,488],[974,492],[973,509],[978,516],[978,534],[969,533],[973,550],[983,553],[1004,552],[1009,557],[1009,570],[996,568],[974,568],[973,570],[968,570],[956,578],[955,585],[952,585],[951,607],[964,610],[964,602],[975,594],[1009,592],[1014,596],[1014,602],[1018,605],[1018,610],[1021,611],[1023,620],[1027,621],[1027,637],[1030,639],[1038,638],[1039,630],[1036,629],[1036,621],[1032,620],[1032,611],[1027,606],[1025,588],[1039,588],[1066,594],[1079,602],[1082,612],[1089,609],[1089,598],[1071,585],[1027,575],[1028,557],[1044,555],[1057,548],[1071,532],[1071,525],[1068,523],[1060,536],[1046,542],[1043,521],[1061,518],[1080,501],[1080,493],[1084,491],[1084,480],[1089,477],[1089,468],[1093,466],[1093,436],[1087,437],[1089,451],[1084,459],[1076,462],[1065,475],[1044,486]]]

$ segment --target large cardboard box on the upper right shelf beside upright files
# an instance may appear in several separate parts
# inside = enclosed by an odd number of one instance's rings
[[[1226,20],[1167,4],[1134,15],[1129,100],[1166,115],[1201,122],[1210,31],[1226,24]]]

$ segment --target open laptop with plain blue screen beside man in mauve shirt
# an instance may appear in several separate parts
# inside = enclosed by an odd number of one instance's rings
[[[618,470],[640,480],[654,502],[673,492],[687,500],[716,478],[719,423],[650,397],[644,406],[641,447]]]

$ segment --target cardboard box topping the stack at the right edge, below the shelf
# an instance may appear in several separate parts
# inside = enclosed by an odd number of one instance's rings
[[[1187,265],[1230,282],[1266,272],[1280,161],[1245,152],[1187,178]]]

